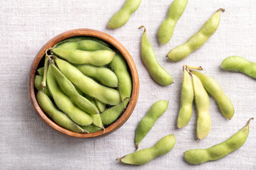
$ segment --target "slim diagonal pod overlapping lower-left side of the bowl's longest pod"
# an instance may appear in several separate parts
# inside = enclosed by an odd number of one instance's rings
[[[65,77],[64,74],[62,74],[62,72],[60,72],[59,69],[57,69],[57,67],[55,67],[54,64],[50,64],[50,69],[52,70],[60,89],[62,89],[62,91],[69,96],[69,98],[71,98],[72,101],[82,109],[82,111],[89,114],[99,114],[98,109],[89,100],[87,100],[87,98],[84,98],[77,92],[74,85],[69,81],[69,79],[67,79],[67,77]]]

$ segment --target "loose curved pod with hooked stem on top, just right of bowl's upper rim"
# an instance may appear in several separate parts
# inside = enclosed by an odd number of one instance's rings
[[[167,73],[157,61],[155,52],[150,44],[150,40],[148,40],[146,28],[144,26],[140,26],[140,28],[144,28],[143,38],[141,39],[141,57],[145,66],[148,68],[152,79],[162,86],[172,84],[172,76]]]

